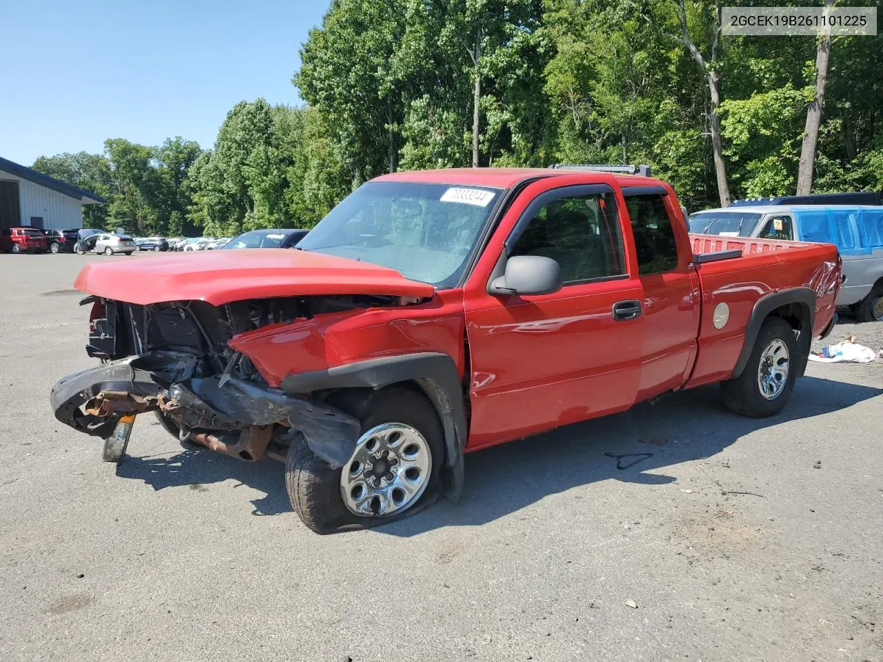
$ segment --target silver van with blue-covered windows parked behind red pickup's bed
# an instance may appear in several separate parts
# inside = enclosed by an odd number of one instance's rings
[[[859,321],[883,321],[883,207],[723,207],[691,214],[690,230],[834,244],[843,260],[837,305],[851,307]]]

